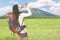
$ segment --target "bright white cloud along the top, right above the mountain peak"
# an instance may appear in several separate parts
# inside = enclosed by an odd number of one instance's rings
[[[52,0],[37,0],[36,2],[28,3],[28,6],[33,8],[40,8],[40,7],[44,7],[47,5],[54,5],[54,4],[55,4],[55,1],[52,1]]]

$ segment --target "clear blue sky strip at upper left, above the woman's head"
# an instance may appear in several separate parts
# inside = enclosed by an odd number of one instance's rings
[[[4,6],[11,6],[14,3],[19,3],[20,5],[23,5],[25,3],[29,3],[29,2],[34,2],[36,0],[0,0],[0,7],[4,7]]]

